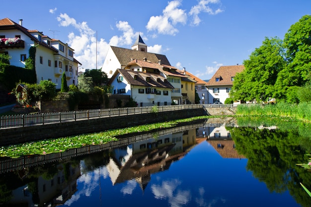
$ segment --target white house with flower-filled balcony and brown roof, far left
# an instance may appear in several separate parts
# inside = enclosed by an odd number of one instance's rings
[[[19,24],[9,18],[0,20],[0,53],[11,56],[11,65],[24,68],[31,47],[36,47],[37,83],[51,80],[59,89],[65,72],[68,85],[78,84],[78,67],[81,64],[74,58],[74,49],[67,43],[50,38],[38,30],[24,28],[22,19]]]

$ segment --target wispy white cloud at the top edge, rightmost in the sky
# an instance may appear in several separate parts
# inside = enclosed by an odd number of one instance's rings
[[[192,25],[199,25],[201,22],[201,19],[199,17],[199,14],[201,12],[205,12],[211,15],[216,15],[220,12],[222,12],[223,10],[220,8],[217,8],[215,10],[213,10],[209,4],[217,4],[220,3],[220,0],[200,0],[199,3],[197,5],[194,5],[191,7],[191,10],[189,12],[189,15],[192,16]]]

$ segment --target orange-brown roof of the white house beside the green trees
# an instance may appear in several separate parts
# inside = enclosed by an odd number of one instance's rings
[[[235,76],[237,72],[241,72],[244,69],[243,65],[236,66],[222,66],[220,67],[213,77],[207,82],[207,86],[217,86],[217,85],[233,85],[232,77]],[[220,78],[216,81],[216,78]]]

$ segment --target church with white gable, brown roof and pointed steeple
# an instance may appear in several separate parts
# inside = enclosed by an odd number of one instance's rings
[[[148,53],[147,49],[147,45],[144,43],[140,35],[132,46],[132,49],[110,46],[101,70],[107,73],[108,78],[111,78],[117,69],[124,69],[128,63],[134,59],[147,59],[152,63],[158,63],[158,61],[161,61],[163,65],[170,66],[165,55]]]

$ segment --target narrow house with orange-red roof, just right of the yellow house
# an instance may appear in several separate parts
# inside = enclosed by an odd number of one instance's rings
[[[201,80],[200,78],[194,76],[192,73],[186,71],[185,68],[183,68],[182,71],[180,70],[180,72],[182,72],[183,74],[188,76],[188,78],[194,82],[194,88],[200,97],[200,103],[199,104],[207,104],[208,103],[208,95],[207,95],[208,91],[207,91],[207,87],[206,87],[207,82],[204,80]],[[193,96],[191,96],[191,98],[193,98],[193,102],[191,101],[191,103],[194,103],[195,90],[193,91]],[[192,92],[192,89],[191,89],[191,92]]]

